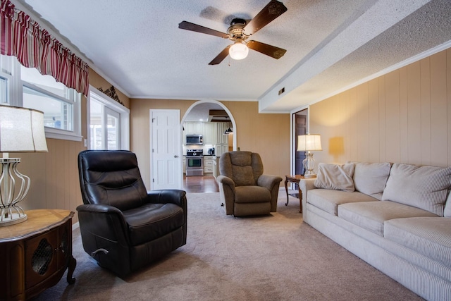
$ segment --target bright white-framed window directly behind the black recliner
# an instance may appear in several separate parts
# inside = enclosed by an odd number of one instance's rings
[[[89,149],[129,149],[130,110],[89,87]]]

